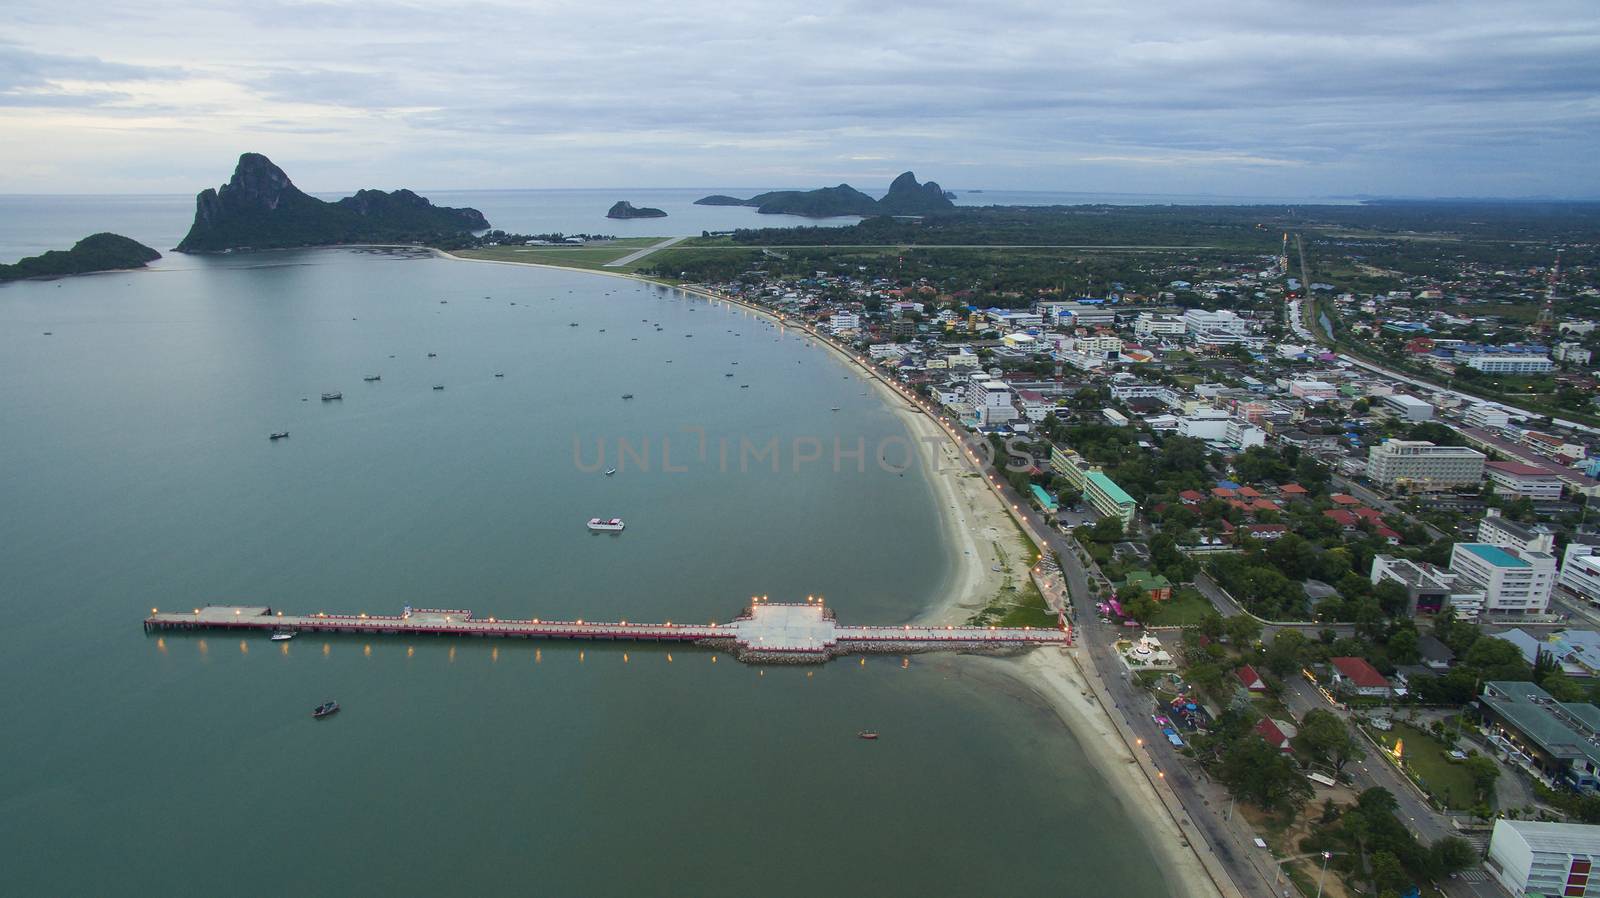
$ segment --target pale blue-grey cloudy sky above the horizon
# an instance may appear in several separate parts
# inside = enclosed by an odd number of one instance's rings
[[[6,0],[0,194],[1600,197],[1600,2]]]

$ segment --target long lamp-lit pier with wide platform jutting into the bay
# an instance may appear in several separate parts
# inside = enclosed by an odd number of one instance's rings
[[[269,605],[205,605],[189,611],[150,608],[144,631],[266,631],[352,635],[472,635],[482,639],[574,639],[680,642],[731,651],[749,663],[821,664],[842,655],[917,651],[1011,653],[1037,645],[1070,645],[1066,629],[957,626],[842,626],[821,600],[781,603],[762,599],[728,623],[542,621],[475,618],[461,608],[406,608],[400,615],[286,615]]]

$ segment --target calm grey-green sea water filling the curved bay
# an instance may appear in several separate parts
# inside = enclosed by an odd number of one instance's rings
[[[523,232],[755,221],[698,195],[432,198]],[[672,218],[594,214],[616,198]],[[165,251],[192,202],[3,197],[0,258]],[[621,279],[334,248],[3,285],[0,892],[1173,895],[1074,733],[982,659],[139,626],[752,595],[909,621],[960,559],[925,472],[878,464],[906,439],[802,335]]]

